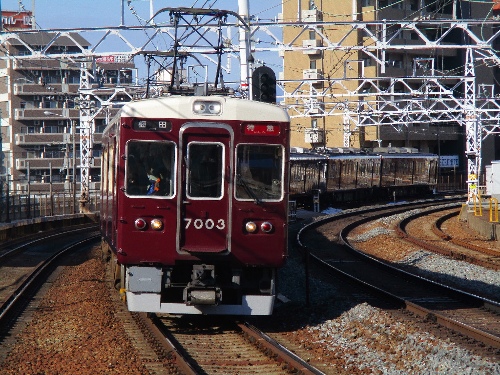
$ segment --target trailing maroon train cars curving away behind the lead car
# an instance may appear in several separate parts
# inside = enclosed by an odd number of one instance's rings
[[[314,189],[336,200],[359,200],[389,193],[425,193],[436,183],[437,155],[428,153],[326,152],[290,153],[290,195]]]

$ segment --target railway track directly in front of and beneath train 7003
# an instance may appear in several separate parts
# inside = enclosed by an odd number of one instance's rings
[[[135,314],[154,337],[158,355],[168,353],[184,375],[323,374],[249,323],[213,316]]]

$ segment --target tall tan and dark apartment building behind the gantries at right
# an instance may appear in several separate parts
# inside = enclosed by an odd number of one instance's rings
[[[383,25],[370,25],[371,29],[357,30],[349,32],[350,26],[336,24],[331,26],[313,25],[304,30],[300,26],[287,26],[283,28],[284,43],[293,41],[294,46],[308,47],[306,50],[287,50],[283,53],[284,73],[280,78],[302,80],[308,79],[311,85],[303,85],[303,93],[311,92],[311,86],[322,92],[329,86],[326,95],[315,97],[311,95],[310,100],[314,102],[311,109],[305,117],[292,118],[291,143],[301,147],[333,147],[343,146],[345,118],[342,116],[342,110],[335,110],[334,115],[324,115],[333,103],[340,101],[349,102],[355,106],[356,100],[374,100],[374,93],[377,90],[374,86],[383,89],[391,87],[390,93],[385,96],[388,101],[398,98],[408,98],[411,96],[403,93],[418,89],[422,85],[424,77],[435,75],[449,85],[453,84],[453,76],[463,76],[464,74],[464,49],[444,49],[444,48],[418,48],[423,44],[421,38],[416,32],[405,29],[399,30],[396,24],[391,25],[390,20],[429,20],[429,19],[485,19],[488,16],[490,4],[480,2],[455,2],[453,1],[433,1],[433,0],[349,0],[349,1],[326,1],[326,0],[292,0],[283,3],[282,14],[280,18],[285,22],[293,21],[340,21],[347,22],[353,19],[361,22],[387,20]],[[454,15],[452,13],[455,13]],[[355,16],[353,16],[355,13]],[[491,34],[491,30],[484,28],[483,36]],[[443,30],[439,27],[425,28],[425,34],[428,40],[436,40],[442,35]],[[386,49],[383,54],[381,50],[372,51],[371,55],[362,50],[352,48],[339,49],[327,48],[321,50],[323,46],[323,37],[330,40],[341,40],[343,45],[368,45],[373,43],[374,38],[370,35],[384,34],[387,39],[394,36],[393,45],[414,45],[414,48],[408,49]],[[345,35],[347,35],[345,37]],[[446,34],[444,43],[448,41],[456,42],[463,39],[463,33],[459,29]],[[465,41],[464,41],[465,44]],[[318,47],[318,49],[314,49]],[[376,59],[385,61],[382,68]],[[484,64],[478,64],[475,69],[476,89],[481,85],[484,87],[493,87],[498,94],[498,85],[495,80],[497,71]],[[406,77],[404,83],[396,80],[394,77]],[[329,79],[324,81],[321,79]],[[334,79],[346,79],[339,84],[331,84]],[[356,79],[358,78],[358,79]],[[365,82],[362,78],[372,78],[373,84],[365,84],[365,87],[359,85]],[[315,80],[316,79],[316,80]],[[455,80],[456,81],[456,80]],[[284,83],[288,89],[294,89],[300,92],[293,84]],[[447,83],[446,83],[447,84]],[[293,88],[292,88],[293,87]],[[348,90],[360,91],[361,94],[353,97],[340,97],[339,94]],[[290,92],[290,91],[288,91]],[[378,91],[379,93],[379,91]],[[463,90],[456,90],[456,95],[463,95]],[[380,96],[378,96],[380,97]],[[431,104],[433,92],[429,92],[423,100],[423,105]],[[288,102],[292,102],[289,99]],[[376,107],[374,107],[376,108]],[[324,109],[324,110],[321,110]],[[364,109],[364,108],[360,108]],[[293,113],[290,113],[293,114]],[[296,113],[295,113],[296,114]],[[461,157],[461,166],[464,165],[464,147],[465,147],[465,129],[456,121],[449,122],[412,122],[408,118],[407,126],[396,129],[396,126],[377,125],[377,126],[358,126],[352,121],[347,122],[352,133],[350,134],[351,147],[414,147],[422,152],[434,152],[439,154],[458,154]],[[485,163],[494,158],[500,158],[498,151],[495,152],[495,139],[490,136],[483,141],[482,155]],[[496,141],[498,143],[498,141]],[[499,144],[500,145],[500,144]],[[496,150],[500,147],[496,147]]]

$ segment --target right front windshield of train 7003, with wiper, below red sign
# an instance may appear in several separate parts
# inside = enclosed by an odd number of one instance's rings
[[[235,196],[241,200],[278,201],[283,197],[283,155],[278,144],[238,144]]]

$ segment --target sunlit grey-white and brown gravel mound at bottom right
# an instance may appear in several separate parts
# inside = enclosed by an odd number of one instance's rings
[[[308,331],[317,335],[316,344],[346,358],[347,371],[355,367],[391,375],[500,373],[500,364],[418,328],[408,329],[367,303]]]

